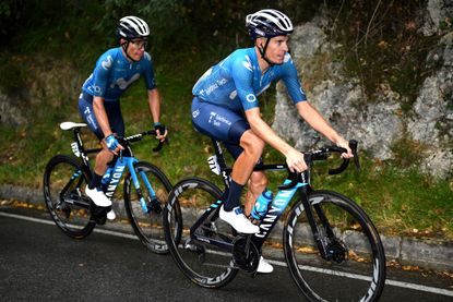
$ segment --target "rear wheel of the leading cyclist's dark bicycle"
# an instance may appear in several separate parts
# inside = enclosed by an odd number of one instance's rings
[[[164,209],[165,234],[175,262],[191,281],[204,288],[225,286],[237,274],[233,268],[233,230],[218,219],[216,210],[220,195],[213,183],[190,178],[175,185]],[[198,220],[201,224],[194,227]],[[210,244],[208,240],[227,247]]]

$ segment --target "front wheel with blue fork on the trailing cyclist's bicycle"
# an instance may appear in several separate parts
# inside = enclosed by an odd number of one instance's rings
[[[140,202],[138,190],[129,173],[124,180],[126,213],[135,234],[147,249],[158,254],[168,253],[162,214],[171,183],[156,166],[150,162],[140,161],[134,168],[145,208]]]

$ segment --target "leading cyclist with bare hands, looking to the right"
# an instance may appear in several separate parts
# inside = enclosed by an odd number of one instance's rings
[[[283,80],[298,113],[314,130],[347,149],[343,157],[353,157],[353,153],[348,142],[307,101],[288,53],[288,36],[293,33],[289,17],[277,10],[261,10],[249,14],[246,25],[254,46],[237,49],[200,77],[192,89],[192,122],[198,131],[224,142],[235,158],[231,184],[219,212],[220,219],[238,232],[255,233],[259,227],[246,216],[250,215],[269,182],[264,172],[253,172],[265,143],[286,157],[293,172],[307,169],[303,155],[261,119],[258,96],[272,82]],[[245,215],[239,198],[246,183],[249,191]],[[258,271],[272,270],[272,266],[261,258]]]

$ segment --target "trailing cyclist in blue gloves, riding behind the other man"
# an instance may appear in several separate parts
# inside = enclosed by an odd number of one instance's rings
[[[93,73],[83,84],[79,98],[82,119],[103,146],[96,155],[93,179],[85,190],[86,195],[99,207],[111,206],[111,201],[100,189],[102,178],[114,155],[123,149],[117,140],[117,135],[124,136],[119,98],[140,76],[145,80],[156,138],[164,141],[167,135],[167,130],[159,121],[160,95],[154,78],[153,61],[145,51],[150,27],[140,17],[124,16],[119,21],[117,36],[120,46],[99,57]],[[114,210],[107,214],[109,219],[115,219],[115,216]]]

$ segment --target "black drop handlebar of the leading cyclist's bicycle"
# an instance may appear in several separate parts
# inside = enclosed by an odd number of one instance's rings
[[[350,140],[349,141],[349,148],[353,152],[354,155],[354,164],[357,168],[357,170],[360,170],[360,161],[359,161],[359,155],[357,152],[357,146],[358,146],[358,142],[356,140]],[[327,146],[327,147],[322,147],[318,150],[314,152],[308,152],[303,154],[303,159],[307,164],[308,167],[311,166],[311,164],[315,160],[325,160],[327,159],[329,155],[331,155],[332,153],[337,153],[337,154],[343,154],[346,153],[345,148],[338,147],[338,146]],[[346,168],[349,166],[349,158],[343,158],[343,162],[336,167],[336,168],[331,168],[329,169],[329,174],[339,174],[341,172],[343,172],[344,170],[346,170]],[[309,172],[309,170],[307,170],[307,172]],[[295,186],[298,182],[307,182],[306,178],[307,178],[307,173],[302,172],[302,173],[294,173],[289,171],[289,176],[288,179],[291,180],[288,184],[284,184],[284,185],[279,185],[278,189],[279,190],[288,190],[293,186]]]

